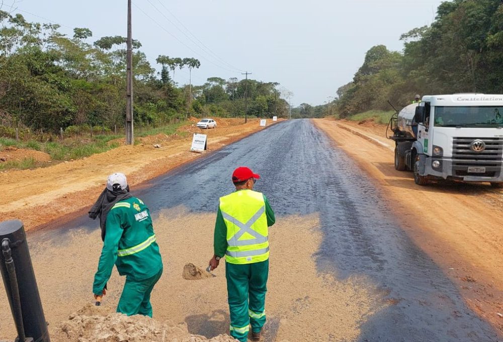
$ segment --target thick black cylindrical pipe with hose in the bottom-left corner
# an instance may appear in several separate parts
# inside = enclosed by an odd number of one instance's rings
[[[26,342],[31,340],[34,342],[50,342],[47,322],[40,301],[23,223],[19,220],[0,222],[0,241],[2,241],[3,248],[3,252],[0,253],[0,271],[18,329],[18,338],[16,340],[23,341],[21,338],[24,336],[19,332],[20,326],[16,318],[18,317],[19,309],[16,304],[16,286],[11,284],[12,278],[9,273],[10,269],[11,272],[14,271],[15,277],[17,278],[22,325],[24,327],[25,336],[28,336]],[[6,248],[7,245],[9,246],[11,249],[10,253],[4,249],[4,241],[8,241],[5,246]],[[6,253],[4,253],[4,251],[6,251]],[[14,264],[10,264],[8,257],[12,258],[16,267],[14,267]]]

